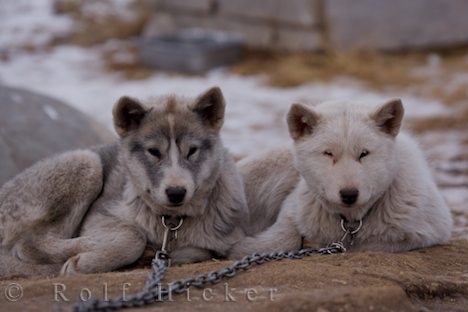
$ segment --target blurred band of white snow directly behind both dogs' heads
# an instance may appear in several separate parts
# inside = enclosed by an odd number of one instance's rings
[[[101,48],[62,46],[47,53],[17,54],[2,64],[0,79],[64,100],[109,128],[112,128],[112,106],[122,95],[140,99],[168,93],[196,96],[218,85],[227,102],[222,135],[234,153],[243,155],[258,148],[289,144],[285,115],[294,102],[314,104],[351,98],[383,103],[395,97],[345,81],[278,89],[265,85],[260,76],[243,77],[224,70],[214,70],[202,77],[161,73],[146,80],[129,81],[104,72],[100,53]],[[437,101],[412,96],[402,99],[409,117],[447,112]]]

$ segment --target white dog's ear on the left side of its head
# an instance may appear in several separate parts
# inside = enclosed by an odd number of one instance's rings
[[[314,132],[319,120],[320,116],[312,108],[302,104],[293,104],[287,117],[289,135],[293,140],[310,135]]]

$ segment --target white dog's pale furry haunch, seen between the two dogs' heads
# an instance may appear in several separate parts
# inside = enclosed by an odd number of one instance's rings
[[[294,156],[278,149],[239,161],[249,207],[247,234],[254,235],[275,223],[286,197],[299,182]]]

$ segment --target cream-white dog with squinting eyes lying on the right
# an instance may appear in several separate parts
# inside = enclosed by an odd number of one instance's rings
[[[293,150],[241,163],[250,209],[254,216],[263,211],[259,226],[266,229],[239,241],[231,257],[298,249],[301,238],[388,252],[447,242],[450,211],[417,143],[399,131],[403,113],[400,100],[377,109],[346,101],[293,104]]]

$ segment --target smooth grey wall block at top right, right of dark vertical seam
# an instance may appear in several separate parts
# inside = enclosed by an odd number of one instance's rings
[[[337,50],[444,47],[468,42],[466,0],[326,0]]]

